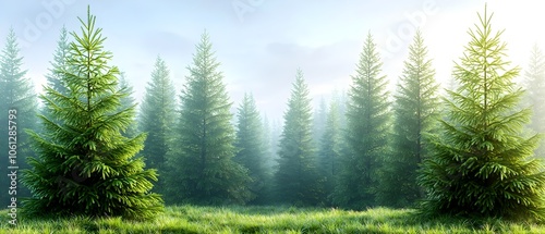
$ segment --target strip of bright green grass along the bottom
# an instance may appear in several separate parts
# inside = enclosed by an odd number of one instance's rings
[[[120,218],[20,218],[8,224],[0,212],[0,233],[545,233],[545,225],[501,220],[424,220],[410,209],[367,211],[293,207],[168,207],[153,221]]]

